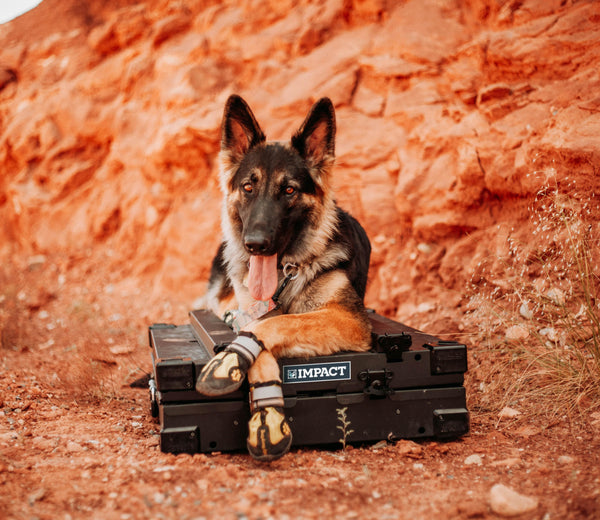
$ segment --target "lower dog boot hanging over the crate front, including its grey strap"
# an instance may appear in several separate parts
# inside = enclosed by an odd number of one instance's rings
[[[246,446],[253,458],[271,461],[285,455],[292,444],[292,430],[283,411],[279,381],[255,383],[250,387],[250,411]]]

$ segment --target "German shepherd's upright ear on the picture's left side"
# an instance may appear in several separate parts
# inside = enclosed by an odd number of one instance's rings
[[[240,96],[230,96],[223,112],[221,150],[228,153],[232,163],[239,163],[250,148],[264,140],[265,134],[248,104]]]

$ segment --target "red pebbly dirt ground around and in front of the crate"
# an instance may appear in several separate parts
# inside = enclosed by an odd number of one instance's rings
[[[42,260],[1,280],[2,518],[498,518],[497,483],[539,501],[517,518],[598,518],[599,418],[486,412],[476,345],[458,441],[293,449],[271,464],[162,453],[148,392],[130,384],[151,369],[147,326],[189,309],[113,283],[100,260]]]

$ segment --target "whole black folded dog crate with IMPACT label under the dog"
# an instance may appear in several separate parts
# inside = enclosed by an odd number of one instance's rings
[[[370,313],[372,348],[279,360],[293,445],[352,444],[383,439],[452,439],[469,431],[466,346]],[[161,450],[170,453],[246,449],[248,387],[220,397],[194,389],[202,367],[235,333],[210,311],[186,325],[149,329],[152,414]]]

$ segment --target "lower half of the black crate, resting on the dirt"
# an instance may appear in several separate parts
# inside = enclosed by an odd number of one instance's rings
[[[462,387],[402,390],[382,399],[362,393],[292,397],[285,399],[285,413],[293,446],[449,439],[469,431]],[[242,401],[163,405],[161,449],[186,451],[180,446],[193,442],[185,435],[197,427],[198,451],[244,450],[249,417]]]

